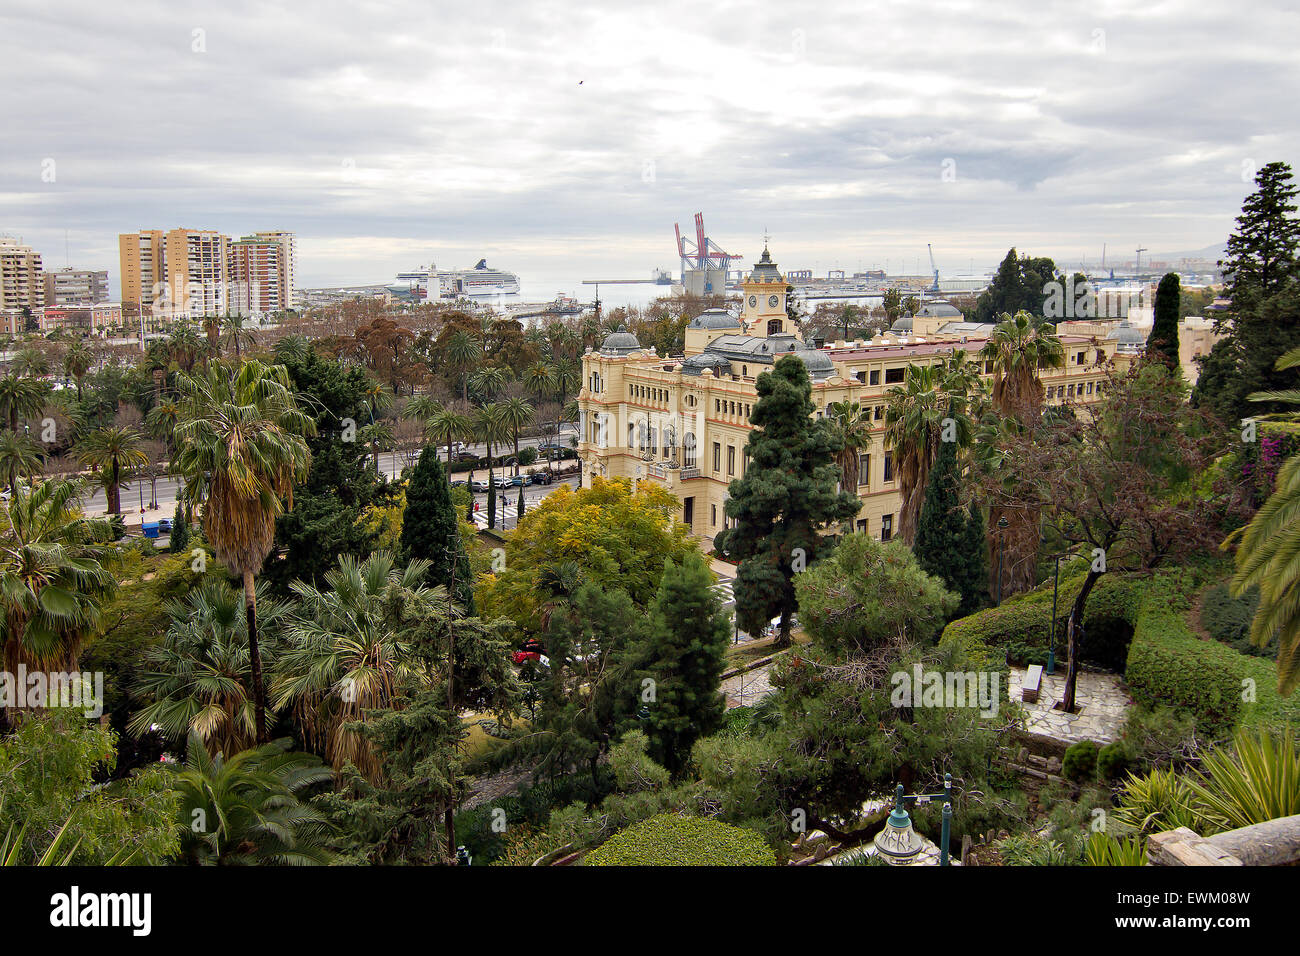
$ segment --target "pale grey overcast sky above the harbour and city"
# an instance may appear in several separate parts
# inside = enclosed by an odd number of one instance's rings
[[[623,7],[0,0],[0,233],[114,290],[117,233],[181,225],[294,230],[303,286],[526,284],[676,272],[703,211],[950,274],[1217,245],[1300,160],[1294,0]]]

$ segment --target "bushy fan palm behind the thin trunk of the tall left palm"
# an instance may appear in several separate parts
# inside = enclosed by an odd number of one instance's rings
[[[266,653],[268,633],[277,633],[287,605],[259,602],[263,662],[274,667]],[[257,741],[252,701],[252,669],[248,661],[248,624],[243,593],[224,580],[207,579],[183,601],[164,606],[168,630],[160,644],[144,652],[133,696],[147,704],[131,718],[130,728],[144,734],[157,726],[169,740],[191,734],[208,753],[238,753]]]

